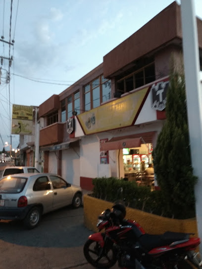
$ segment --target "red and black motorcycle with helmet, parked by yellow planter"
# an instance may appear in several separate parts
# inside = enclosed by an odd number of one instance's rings
[[[189,233],[145,233],[140,224],[124,220],[125,206],[116,204],[99,216],[98,233],[84,245],[86,260],[96,268],[115,265],[122,269],[202,269],[195,250],[201,240]],[[101,230],[104,232],[101,233]]]

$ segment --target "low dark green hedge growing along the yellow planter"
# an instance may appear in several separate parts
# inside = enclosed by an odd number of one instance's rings
[[[112,203],[121,200],[126,206],[167,217],[161,191],[114,177],[93,179],[93,185],[92,195],[96,198]]]

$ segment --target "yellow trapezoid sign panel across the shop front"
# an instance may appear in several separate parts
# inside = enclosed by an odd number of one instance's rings
[[[149,87],[103,104],[77,116],[85,134],[131,126],[137,119]]]

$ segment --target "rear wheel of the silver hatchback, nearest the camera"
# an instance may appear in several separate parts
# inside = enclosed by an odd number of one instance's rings
[[[33,207],[27,214],[26,218],[24,219],[24,225],[28,229],[35,228],[40,220],[41,220],[41,210],[39,207]]]

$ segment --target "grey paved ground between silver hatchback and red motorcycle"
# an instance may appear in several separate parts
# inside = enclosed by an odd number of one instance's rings
[[[83,207],[44,215],[33,230],[0,221],[0,269],[93,269],[83,255],[91,233],[83,225]]]

